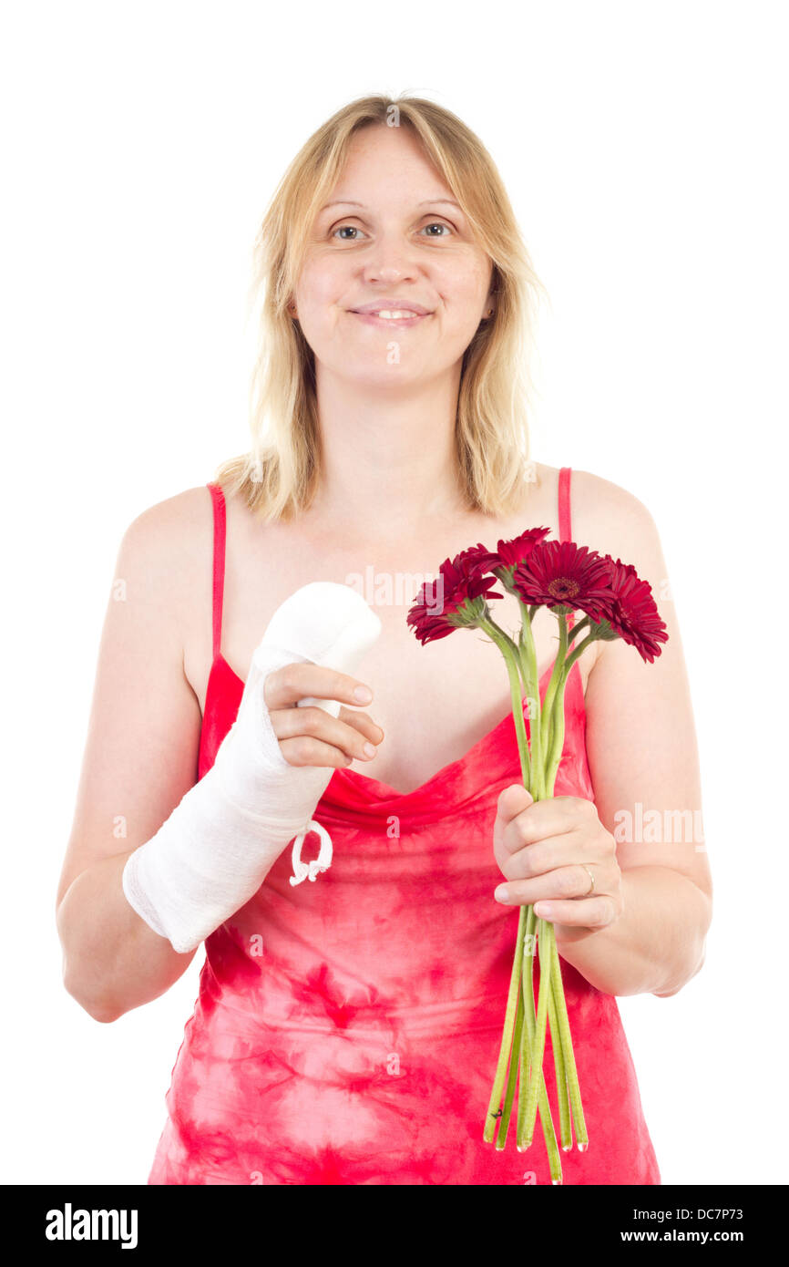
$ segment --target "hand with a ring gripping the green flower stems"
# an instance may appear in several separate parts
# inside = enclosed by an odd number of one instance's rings
[[[575,796],[533,801],[517,783],[504,788],[493,851],[507,881],[494,897],[509,906],[537,903],[534,914],[553,925],[557,946],[608,927],[624,910],[617,844],[593,801]]]

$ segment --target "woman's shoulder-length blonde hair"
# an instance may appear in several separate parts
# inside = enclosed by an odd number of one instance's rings
[[[314,497],[320,475],[314,353],[287,305],[318,209],[339,179],[353,134],[371,124],[413,131],[493,261],[494,315],[480,322],[461,367],[457,470],[470,509],[517,513],[523,481],[532,478],[529,357],[545,288],[483,143],[450,110],[415,96],[363,96],[344,105],[306,141],[275,190],[253,251],[260,343],[249,385],[252,445],[214,478],[266,519],[290,519]]]

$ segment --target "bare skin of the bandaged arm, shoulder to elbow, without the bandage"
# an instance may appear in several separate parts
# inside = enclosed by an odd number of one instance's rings
[[[176,953],[129,906],[120,877],[196,779],[200,707],[184,674],[180,593],[189,490],[143,512],[115,566],[71,836],[57,889],[63,984],[95,1020],[157,998],[194,952]],[[210,559],[209,523],[204,547]],[[194,525],[190,532],[195,531]],[[123,584],[119,585],[118,582]]]

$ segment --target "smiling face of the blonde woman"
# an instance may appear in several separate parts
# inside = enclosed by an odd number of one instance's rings
[[[318,371],[372,385],[456,366],[491,307],[491,262],[418,139],[357,132],[327,203],[294,294]]]

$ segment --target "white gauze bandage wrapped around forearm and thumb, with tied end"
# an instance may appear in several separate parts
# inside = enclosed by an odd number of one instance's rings
[[[285,760],[263,688],[270,673],[294,663],[355,675],[380,631],[361,594],[333,582],[304,585],[271,617],[213,767],[123,870],[127,901],[174,950],[194,950],[248,902],[294,836],[291,884],[315,879],[331,864],[331,839],[312,815],[334,768]],[[314,704],[333,717],[341,707],[338,701],[312,698],[298,704]],[[300,848],[310,830],[320,836],[320,855],[303,863]]]

